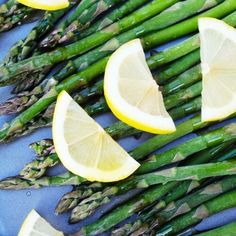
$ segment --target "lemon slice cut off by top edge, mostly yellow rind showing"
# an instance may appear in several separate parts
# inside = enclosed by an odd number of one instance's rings
[[[55,11],[69,6],[68,0],[17,0],[19,3],[40,10]]]

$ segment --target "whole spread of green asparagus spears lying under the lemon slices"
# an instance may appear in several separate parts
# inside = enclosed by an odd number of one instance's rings
[[[16,7],[11,6],[10,2],[14,1],[10,0],[6,9],[14,11]],[[6,15],[2,9],[0,14]],[[1,105],[1,114],[22,112],[0,131],[2,142],[50,125],[54,101],[64,89],[90,115],[109,112],[103,98],[103,81],[98,76],[103,74],[111,53],[133,38],[141,37],[148,51],[164,42],[195,32],[197,19],[201,16],[225,17],[224,21],[236,26],[234,0],[83,0],[72,15],[38,45],[38,41],[53,29],[53,24],[67,10],[45,13],[30,35],[13,47],[5,64],[0,67],[2,85],[18,83],[16,93],[28,90]],[[102,12],[105,15],[97,18]],[[98,20],[94,23],[95,18]],[[46,27],[48,22],[51,24]],[[42,47],[47,50],[70,40],[75,42],[51,52],[40,51]],[[147,59],[150,69],[160,70],[164,66],[161,71],[154,72],[154,78],[161,85],[165,106],[174,119],[196,113],[201,108],[199,46],[199,37],[195,35]],[[29,58],[31,53],[35,53],[35,56]],[[77,58],[73,58],[75,56]],[[67,59],[70,61],[65,67],[52,78],[45,79],[45,74],[55,64]],[[127,194],[119,202],[121,206],[115,210],[112,209],[117,205],[107,207],[99,214],[100,219],[83,227],[79,235],[95,235],[109,230],[113,230],[112,235],[176,234],[208,215],[235,206],[235,191],[232,191],[235,188],[235,176],[227,176],[236,173],[236,150],[232,144],[236,138],[235,123],[213,130],[211,127],[184,144],[147,156],[179,137],[209,125],[201,122],[199,115],[195,115],[179,124],[175,133],[150,138],[130,151],[133,158],[141,160],[139,170],[129,179],[115,185],[90,183],[70,172],[46,176],[46,170],[58,164],[59,158],[52,140],[42,140],[31,146],[37,154],[36,160],[27,164],[19,176],[0,181],[0,188],[74,185],[73,191],[65,194],[56,208],[57,214],[72,210],[70,223],[90,216],[99,207],[111,202],[114,196]],[[141,133],[122,122],[114,123],[106,131],[114,139]],[[158,169],[170,163],[177,166]],[[177,186],[179,188],[176,191]],[[134,213],[139,214],[137,220],[114,229]],[[226,229],[230,230],[231,225]],[[194,230],[190,228],[186,233],[189,232],[194,233]]]

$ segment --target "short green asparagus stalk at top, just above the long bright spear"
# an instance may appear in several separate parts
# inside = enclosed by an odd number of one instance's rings
[[[106,14],[101,19],[96,20],[88,29],[80,32],[76,35],[78,40],[85,38],[97,31],[104,29],[105,27],[115,23],[119,19],[122,19],[126,15],[132,13],[137,8],[145,4],[147,0],[128,0],[125,1],[121,6],[116,7],[110,13]]]

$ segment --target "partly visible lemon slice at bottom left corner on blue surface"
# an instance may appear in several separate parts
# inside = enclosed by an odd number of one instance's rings
[[[54,229],[35,210],[32,210],[24,220],[18,236],[63,236],[64,234]]]

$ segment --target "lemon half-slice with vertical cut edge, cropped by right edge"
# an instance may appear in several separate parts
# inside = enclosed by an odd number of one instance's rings
[[[199,19],[203,75],[202,120],[236,111],[236,30],[221,20]]]

